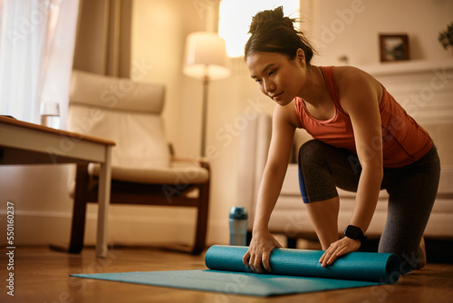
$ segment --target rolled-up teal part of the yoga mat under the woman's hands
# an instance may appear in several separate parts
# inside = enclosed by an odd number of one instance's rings
[[[208,269],[251,272],[242,262],[247,247],[215,245],[207,249]],[[273,275],[350,279],[395,283],[400,278],[400,258],[390,253],[350,252],[321,267],[321,250],[274,249],[269,263]]]

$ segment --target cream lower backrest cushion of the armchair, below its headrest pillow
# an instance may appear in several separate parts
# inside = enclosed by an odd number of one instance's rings
[[[71,103],[68,128],[117,142],[111,166],[130,169],[169,168],[169,146],[159,115]]]

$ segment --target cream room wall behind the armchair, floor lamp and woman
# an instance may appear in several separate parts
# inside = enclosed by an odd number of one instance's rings
[[[337,31],[332,41],[322,40],[323,25],[340,24],[337,20],[342,19],[337,10],[344,12],[352,3],[352,0],[313,0],[308,5],[306,12],[313,15],[307,17],[303,27],[313,28],[310,35],[326,45],[319,49],[315,64],[337,64],[341,54],[348,54],[350,64],[378,64],[377,33],[390,31],[410,34],[414,59],[450,56],[437,42],[437,35],[453,19],[453,2],[362,0],[362,12],[349,24],[344,22],[344,29]],[[201,82],[181,72],[185,39],[187,34],[207,28],[209,9],[215,10],[213,4],[211,0],[133,3],[131,77],[168,85],[164,117],[169,141],[179,155],[197,156],[201,133]],[[213,81],[209,86],[207,145],[213,151],[207,154],[212,169],[207,235],[210,244],[227,242],[227,213],[240,194],[236,192],[237,144],[240,130],[246,127],[243,114],[272,112],[275,107],[250,79],[243,59],[232,60],[231,68],[229,78]],[[67,191],[67,175],[66,167],[0,168],[0,203],[5,205],[6,200],[14,200],[16,204],[17,245],[68,241],[72,200]],[[1,224],[5,223],[4,210],[2,206]],[[97,206],[90,205],[88,211],[85,241],[93,244]],[[173,240],[190,243],[194,216],[193,210],[111,207],[109,239],[113,244]],[[5,237],[0,238],[0,243],[5,243]]]

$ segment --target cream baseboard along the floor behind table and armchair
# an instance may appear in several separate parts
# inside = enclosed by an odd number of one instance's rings
[[[177,242],[192,245],[195,239],[195,216],[136,216],[111,214],[109,216],[109,245],[149,245],[159,242]],[[56,211],[15,211],[14,245],[68,244],[72,213]],[[2,230],[6,230],[6,212],[0,211]],[[87,214],[85,245],[94,245],[96,240],[97,214]],[[226,244],[228,222],[212,220],[208,223],[207,245]],[[0,239],[6,245],[6,237]]]

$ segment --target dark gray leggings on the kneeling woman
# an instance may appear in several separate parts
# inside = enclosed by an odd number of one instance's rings
[[[419,161],[383,171],[381,190],[389,192],[389,205],[378,251],[398,254],[405,273],[421,262],[419,242],[439,185],[438,152],[433,145]],[[305,142],[299,150],[299,185],[305,203],[337,197],[336,187],[357,191],[360,176],[360,162],[351,152],[317,140]]]

